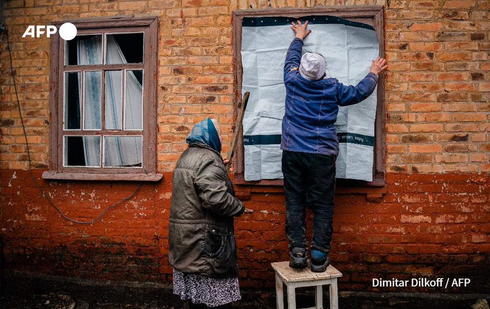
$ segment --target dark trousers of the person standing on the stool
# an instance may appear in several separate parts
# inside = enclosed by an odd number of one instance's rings
[[[311,249],[330,252],[334,213],[335,158],[325,154],[282,152],[289,248],[307,248],[306,207],[313,210]]]

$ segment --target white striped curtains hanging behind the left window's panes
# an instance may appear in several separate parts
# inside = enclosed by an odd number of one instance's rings
[[[112,35],[107,35],[106,62],[127,63],[121,48]],[[102,42],[101,36],[94,36],[89,40],[78,40],[78,65],[101,64]],[[122,128],[122,84],[123,74],[117,71],[106,71],[107,83],[105,87],[105,129]],[[123,71],[124,72],[124,71]],[[132,71],[125,71],[125,128],[126,130],[143,129],[143,85],[138,81]],[[97,96],[100,97],[101,82],[94,77],[95,74],[85,72],[85,129],[100,128],[100,103],[97,105]],[[88,89],[90,87],[90,89]],[[98,88],[97,88],[98,87]],[[90,93],[87,94],[87,91]],[[95,166],[94,155],[100,154],[99,143],[84,139],[84,152],[87,166]],[[142,163],[142,136],[115,136],[104,138],[104,166],[138,166]]]

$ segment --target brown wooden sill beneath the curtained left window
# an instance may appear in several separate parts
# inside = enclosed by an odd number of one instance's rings
[[[46,171],[43,173],[43,179],[53,180],[141,180],[141,181],[158,181],[161,180],[162,174],[90,174],[90,173],[57,173]]]

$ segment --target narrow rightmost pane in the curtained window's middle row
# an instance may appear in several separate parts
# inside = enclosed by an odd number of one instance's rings
[[[124,129],[143,129],[143,70],[127,70],[124,85]]]

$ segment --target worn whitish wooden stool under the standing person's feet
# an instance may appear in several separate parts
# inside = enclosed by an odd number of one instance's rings
[[[296,287],[315,286],[315,307],[308,309],[323,309],[322,285],[329,284],[330,288],[330,309],[339,308],[339,297],[337,294],[337,278],[342,277],[342,273],[332,265],[322,273],[311,271],[310,261],[308,266],[303,269],[289,267],[289,261],[272,263],[272,268],[276,273],[276,300],[277,309],[284,309],[282,284],[286,283],[288,290],[288,309],[296,309]]]

